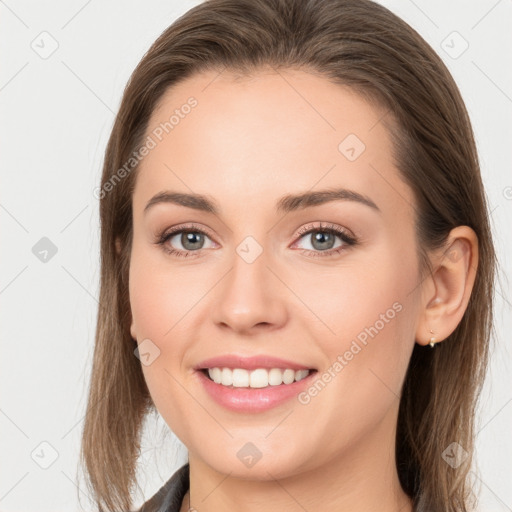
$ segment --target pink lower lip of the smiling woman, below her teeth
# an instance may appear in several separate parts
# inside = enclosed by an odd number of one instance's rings
[[[217,384],[209,379],[202,371],[199,375],[206,392],[219,404],[236,412],[263,412],[292,399],[307,386],[317,373],[311,371],[302,380],[292,384],[267,386],[266,388],[230,388]]]

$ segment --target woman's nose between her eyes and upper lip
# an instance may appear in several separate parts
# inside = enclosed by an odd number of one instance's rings
[[[251,335],[285,325],[290,297],[269,260],[265,251],[252,262],[234,255],[232,267],[218,284],[213,320],[219,328]]]

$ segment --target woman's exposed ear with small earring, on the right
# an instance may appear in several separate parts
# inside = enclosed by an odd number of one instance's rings
[[[446,339],[459,325],[478,267],[478,238],[469,226],[450,231],[446,244],[430,255],[432,273],[422,283],[416,342]]]

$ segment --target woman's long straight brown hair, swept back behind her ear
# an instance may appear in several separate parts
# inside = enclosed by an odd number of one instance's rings
[[[396,463],[416,512],[466,511],[474,420],[492,333],[495,253],[478,156],[459,90],[438,55],[404,21],[370,0],[209,0],[181,16],[133,72],[106,148],[101,186],[143,142],[169,87],[204,70],[302,69],[387,109],[397,167],[416,199],[418,257],[449,231],[478,236],[473,292],[452,335],[415,345],[406,374]],[[100,196],[100,306],[81,462],[100,511],[131,509],[143,420],[155,411],[130,335],[128,269],[137,169]],[[120,252],[116,250],[120,242]],[[469,457],[452,468],[442,452]]]

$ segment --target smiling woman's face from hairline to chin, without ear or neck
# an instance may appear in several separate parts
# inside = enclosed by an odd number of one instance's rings
[[[190,458],[263,480],[394,442],[420,287],[385,113],[303,71],[199,74],[153,112],[133,193],[131,333]],[[291,394],[205,382],[198,365],[225,355],[316,371]]]

